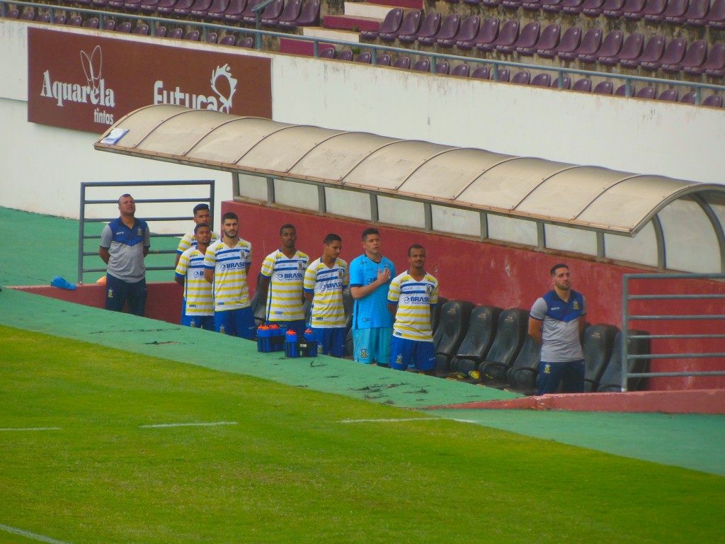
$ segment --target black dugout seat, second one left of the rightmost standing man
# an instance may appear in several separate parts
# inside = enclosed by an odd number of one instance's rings
[[[521,308],[504,310],[499,316],[494,343],[479,365],[482,379],[505,382],[506,373],[513,365],[528,336],[529,312]]]

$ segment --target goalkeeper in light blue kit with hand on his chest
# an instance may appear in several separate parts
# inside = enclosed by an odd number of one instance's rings
[[[363,255],[350,263],[350,294],[355,299],[352,341],[359,363],[388,366],[393,319],[388,305],[388,286],[395,276],[392,260],[381,255],[380,233],[363,231]]]

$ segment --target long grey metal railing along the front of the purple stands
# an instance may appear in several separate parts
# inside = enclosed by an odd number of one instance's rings
[[[205,41],[207,37],[207,33],[210,31],[219,33],[220,30],[225,31],[226,33],[242,33],[242,34],[248,34],[250,36],[254,36],[254,48],[257,50],[262,50],[262,37],[268,36],[271,38],[287,38],[287,39],[294,39],[298,41],[308,41],[312,43],[312,50],[315,57],[318,57],[318,54],[320,52],[320,44],[324,45],[334,45],[334,46],[343,46],[343,47],[349,47],[350,49],[366,49],[370,50],[370,53],[372,54],[372,63],[375,64],[378,58],[378,54],[381,53],[381,51],[384,51],[385,53],[395,53],[395,54],[401,54],[405,55],[407,57],[415,56],[415,57],[426,57],[431,60],[431,67],[430,71],[431,73],[435,73],[436,70],[436,63],[440,61],[460,61],[460,62],[466,62],[466,63],[475,63],[476,65],[489,65],[491,70],[491,79],[492,81],[498,81],[499,79],[499,71],[502,68],[514,68],[518,70],[538,70],[541,72],[547,72],[547,73],[555,73],[556,78],[558,79],[558,86],[560,88],[563,87],[563,81],[566,75],[581,75],[583,77],[587,78],[606,78],[606,79],[612,79],[619,81],[621,83],[624,83],[625,85],[625,96],[631,96],[631,88],[632,84],[634,82],[642,82],[645,83],[647,86],[655,86],[655,85],[667,85],[667,86],[674,86],[679,88],[689,88],[695,91],[695,104],[700,104],[702,102],[702,92],[703,90],[711,90],[716,92],[725,93],[725,86],[724,85],[714,85],[712,83],[700,83],[695,81],[679,81],[674,79],[664,79],[664,78],[650,78],[646,76],[641,75],[624,75],[624,74],[618,74],[618,73],[611,73],[611,72],[597,72],[594,70],[579,70],[576,68],[566,68],[566,67],[556,67],[556,66],[547,66],[547,65],[536,65],[536,64],[529,64],[529,63],[523,63],[523,62],[511,62],[511,61],[505,61],[505,60],[495,60],[495,59],[485,59],[485,58],[479,58],[479,57],[465,57],[463,55],[454,55],[454,54],[447,54],[447,53],[436,53],[434,51],[421,51],[418,49],[405,49],[402,47],[392,47],[392,46],[386,46],[386,45],[378,45],[378,44],[363,44],[357,41],[341,41],[341,40],[334,40],[330,38],[319,38],[315,36],[301,36],[298,34],[292,34],[292,33],[283,33],[283,32],[276,32],[273,30],[262,30],[261,27],[261,15],[262,11],[264,11],[265,7],[270,4],[273,0],[264,0],[262,3],[258,4],[254,8],[252,8],[252,11],[254,12],[255,16],[255,28],[246,28],[246,27],[240,27],[240,26],[233,26],[233,25],[223,25],[219,23],[214,22],[198,22],[198,21],[192,21],[192,20],[183,20],[183,19],[172,19],[168,17],[153,17],[148,15],[138,15],[138,14],[131,14],[131,13],[124,13],[124,12],[108,12],[104,10],[99,9],[80,9],[76,7],[64,7],[64,6],[54,6],[50,4],[36,4],[34,2],[25,2],[25,1],[12,1],[12,0],[0,0],[0,15],[5,15],[7,12],[7,6],[13,5],[17,7],[33,7],[33,8],[40,8],[40,9],[48,9],[50,12],[50,19],[53,20],[54,14],[56,10],[62,11],[62,12],[73,12],[73,13],[79,13],[79,14],[88,14],[93,15],[94,17],[99,17],[99,26],[102,27],[103,22],[105,18],[112,17],[114,19],[125,19],[125,20],[139,20],[146,22],[149,24],[149,31],[151,33],[151,36],[154,36],[156,25],[150,24],[150,23],[159,23],[159,24],[165,24],[165,25],[186,25],[192,28],[199,29],[199,33],[201,36],[201,41]]]

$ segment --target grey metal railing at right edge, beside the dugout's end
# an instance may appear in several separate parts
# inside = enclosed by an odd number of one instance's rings
[[[723,358],[724,353],[629,353],[630,339],[725,339],[725,334],[631,334],[630,321],[718,321],[724,320],[725,314],[636,314],[629,313],[629,302],[632,300],[724,300],[725,294],[630,294],[632,280],[724,280],[722,273],[661,273],[661,274],[624,274],[622,276],[622,391],[627,390],[629,378],[666,378],[676,376],[725,376],[725,371],[682,371],[682,372],[630,372],[630,361],[637,359],[697,359]],[[721,328],[722,330],[722,328]]]

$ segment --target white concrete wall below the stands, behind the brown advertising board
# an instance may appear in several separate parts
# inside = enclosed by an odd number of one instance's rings
[[[215,179],[217,201],[231,199],[228,173],[96,152],[95,134],[28,123],[26,28],[0,20],[2,205],[76,218],[80,182],[154,179]],[[725,184],[725,110],[271,56],[275,120]]]

